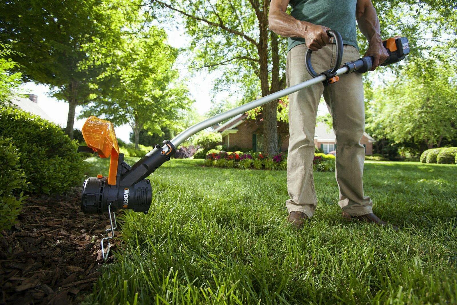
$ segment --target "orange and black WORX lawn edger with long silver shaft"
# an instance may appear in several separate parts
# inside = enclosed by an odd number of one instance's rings
[[[170,141],[164,140],[163,145],[155,145],[153,150],[148,152],[137,163],[133,164],[133,166],[128,165],[123,160],[124,155],[119,153],[114,126],[110,121],[101,120],[95,116],[90,116],[86,120],[82,128],[82,134],[87,146],[80,146],[78,152],[97,152],[101,158],[110,157],[108,175],[105,177],[99,174],[97,177],[87,178],[83,184],[81,194],[81,209],[83,212],[88,214],[108,212],[109,214],[111,227],[106,229],[106,237],[101,240],[101,251],[105,260],[110,249],[109,240],[114,238],[114,230],[116,229],[114,212],[131,209],[134,212],[143,212],[146,214],[152,200],[152,186],[147,177],[158,169],[160,165],[170,160],[171,156],[176,152],[176,147],[189,137],[224,120],[228,120],[236,115],[243,114],[319,82],[323,82],[324,86],[329,86],[337,82],[339,76],[342,74],[352,72],[365,73],[370,71],[373,62],[371,56],[347,62],[341,66],[343,41],[340,33],[329,30],[327,34],[329,37],[334,38],[336,44],[337,58],[335,66],[332,69],[317,74],[311,65],[311,54],[313,51],[308,49],[306,54],[306,70],[314,78],[192,125]],[[389,53],[389,57],[383,65],[396,63],[403,60],[409,54],[408,39],[405,37],[397,36],[389,38],[383,44]],[[108,243],[105,254],[104,243],[106,241]]]

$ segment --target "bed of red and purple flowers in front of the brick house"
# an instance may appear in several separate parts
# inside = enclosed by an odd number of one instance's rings
[[[268,156],[261,152],[224,152],[211,150],[205,158],[206,166],[238,169],[287,169],[287,154],[280,152]],[[335,156],[315,153],[313,169],[317,171],[334,171]]]

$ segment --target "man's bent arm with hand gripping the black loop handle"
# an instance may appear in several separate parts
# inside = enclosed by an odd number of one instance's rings
[[[313,51],[322,49],[331,42],[327,35],[328,27],[299,21],[286,14],[289,0],[271,0],[268,27],[271,31],[285,37],[305,38],[306,46]]]

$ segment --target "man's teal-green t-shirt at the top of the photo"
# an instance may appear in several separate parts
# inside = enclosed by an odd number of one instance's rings
[[[300,21],[311,22],[338,31],[343,44],[351,44],[357,49],[356,4],[357,0],[290,0],[291,16]],[[287,51],[304,38],[289,37]]]

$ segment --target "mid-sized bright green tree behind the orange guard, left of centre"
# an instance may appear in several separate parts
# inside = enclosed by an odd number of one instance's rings
[[[178,50],[165,44],[166,34],[157,27],[133,29],[135,35],[126,35],[121,48],[111,56],[110,67],[101,76],[99,97],[81,116],[95,114],[114,124],[129,124],[133,129],[135,148],[138,149],[140,131],[163,134],[162,128],[180,130],[191,100],[187,89],[178,82],[173,69]],[[158,144],[158,143],[156,143]]]

